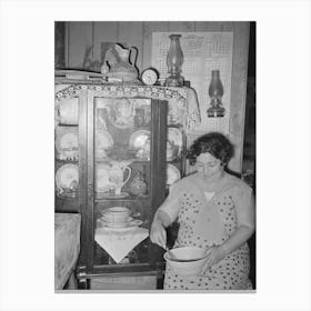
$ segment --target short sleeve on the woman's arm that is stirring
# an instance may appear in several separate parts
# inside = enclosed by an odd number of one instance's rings
[[[168,198],[159,208],[159,210],[165,212],[169,215],[171,223],[175,221],[179,214],[180,194],[181,194],[181,182],[171,184]]]

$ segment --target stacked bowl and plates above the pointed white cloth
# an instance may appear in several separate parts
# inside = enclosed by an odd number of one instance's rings
[[[131,210],[124,207],[106,209],[98,220],[98,227],[112,231],[128,231],[139,227],[142,221],[130,217]]]

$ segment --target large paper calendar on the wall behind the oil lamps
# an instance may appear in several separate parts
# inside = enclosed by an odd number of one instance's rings
[[[191,81],[191,88],[197,91],[201,123],[193,129],[193,134],[219,131],[230,132],[230,98],[233,32],[178,32],[184,61],[181,74]],[[152,33],[151,64],[157,68],[160,79],[167,78],[167,54],[170,47],[169,36],[172,32]],[[222,106],[224,116],[221,118],[208,117],[210,108],[209,86],[212,70],[220,71],[223,86]]]

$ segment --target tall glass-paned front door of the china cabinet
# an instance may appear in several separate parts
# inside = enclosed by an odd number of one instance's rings
[[[165,197],[167,102],[108,98],[90,91],[87,114],[87,268],[149,265],[152,260],[149,229]],[[107,218],[111,208],[127,208],[130,215],[121,221]],[[111,243],[118,234],[120,239],[130,239],[138,228],[146,230],[146,238],[138,240],[122,260],[114,260],[109,238]],[[106,243],[97,239],[102,234]]]

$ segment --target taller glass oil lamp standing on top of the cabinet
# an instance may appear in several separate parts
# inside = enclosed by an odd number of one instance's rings
[[[171,34],[171,44],[167,57],[167,64],[169,73],[171,74],[165,79],[165,87],[182,87],[183,77],[181,73],[181,66],[183,63],[183,53],[180,47],[181,34]]]

